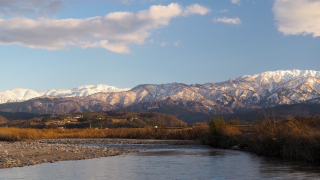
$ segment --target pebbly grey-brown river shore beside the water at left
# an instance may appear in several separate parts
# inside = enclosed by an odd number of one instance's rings
[[[83,144],[198,144],[193,140],[144,139],[42,139],[15,142],[0,141],[0,168],[22,167],[43,162],[80,160],[137,152],[134,149],[107,148]]]

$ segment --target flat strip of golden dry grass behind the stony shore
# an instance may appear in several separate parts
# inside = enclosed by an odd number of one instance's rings
[[[196,140],[206,132],[204,125],[185,129],[32,129],[0,127],[0,140],[17,141],[52,138],[138,138],[138,139],[188,139]]]

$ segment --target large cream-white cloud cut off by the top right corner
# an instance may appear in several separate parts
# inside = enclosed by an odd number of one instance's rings
[[[272,11],[283,34],[320,36],[320,0],[275,0]]]

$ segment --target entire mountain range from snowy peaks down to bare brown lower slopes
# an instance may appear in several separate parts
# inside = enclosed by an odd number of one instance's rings
[[[0,92],[0,102],[0,110],[9,112],[160,111],[170,106],[209,115],[237,113],[280,104],[320,103],[320,71],[267,71],[217,83],[140,84],[132,89],[101,84],[44,92],[17,88]]]

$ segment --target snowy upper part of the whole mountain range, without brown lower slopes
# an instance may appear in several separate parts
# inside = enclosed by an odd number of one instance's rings
[[[205,84],[141,84],[132,89],[117,89],[98,84],[67,90],[35,92],[28,89],[0,92],[1,103],[26,100],[39,95],[86,96],[111,106],[125,107],[170,98],[196,101],[208,108],[224,106],[233,111],[277,104],[320,102],[320,71],[278,70],[243,75],[227,81]]]

